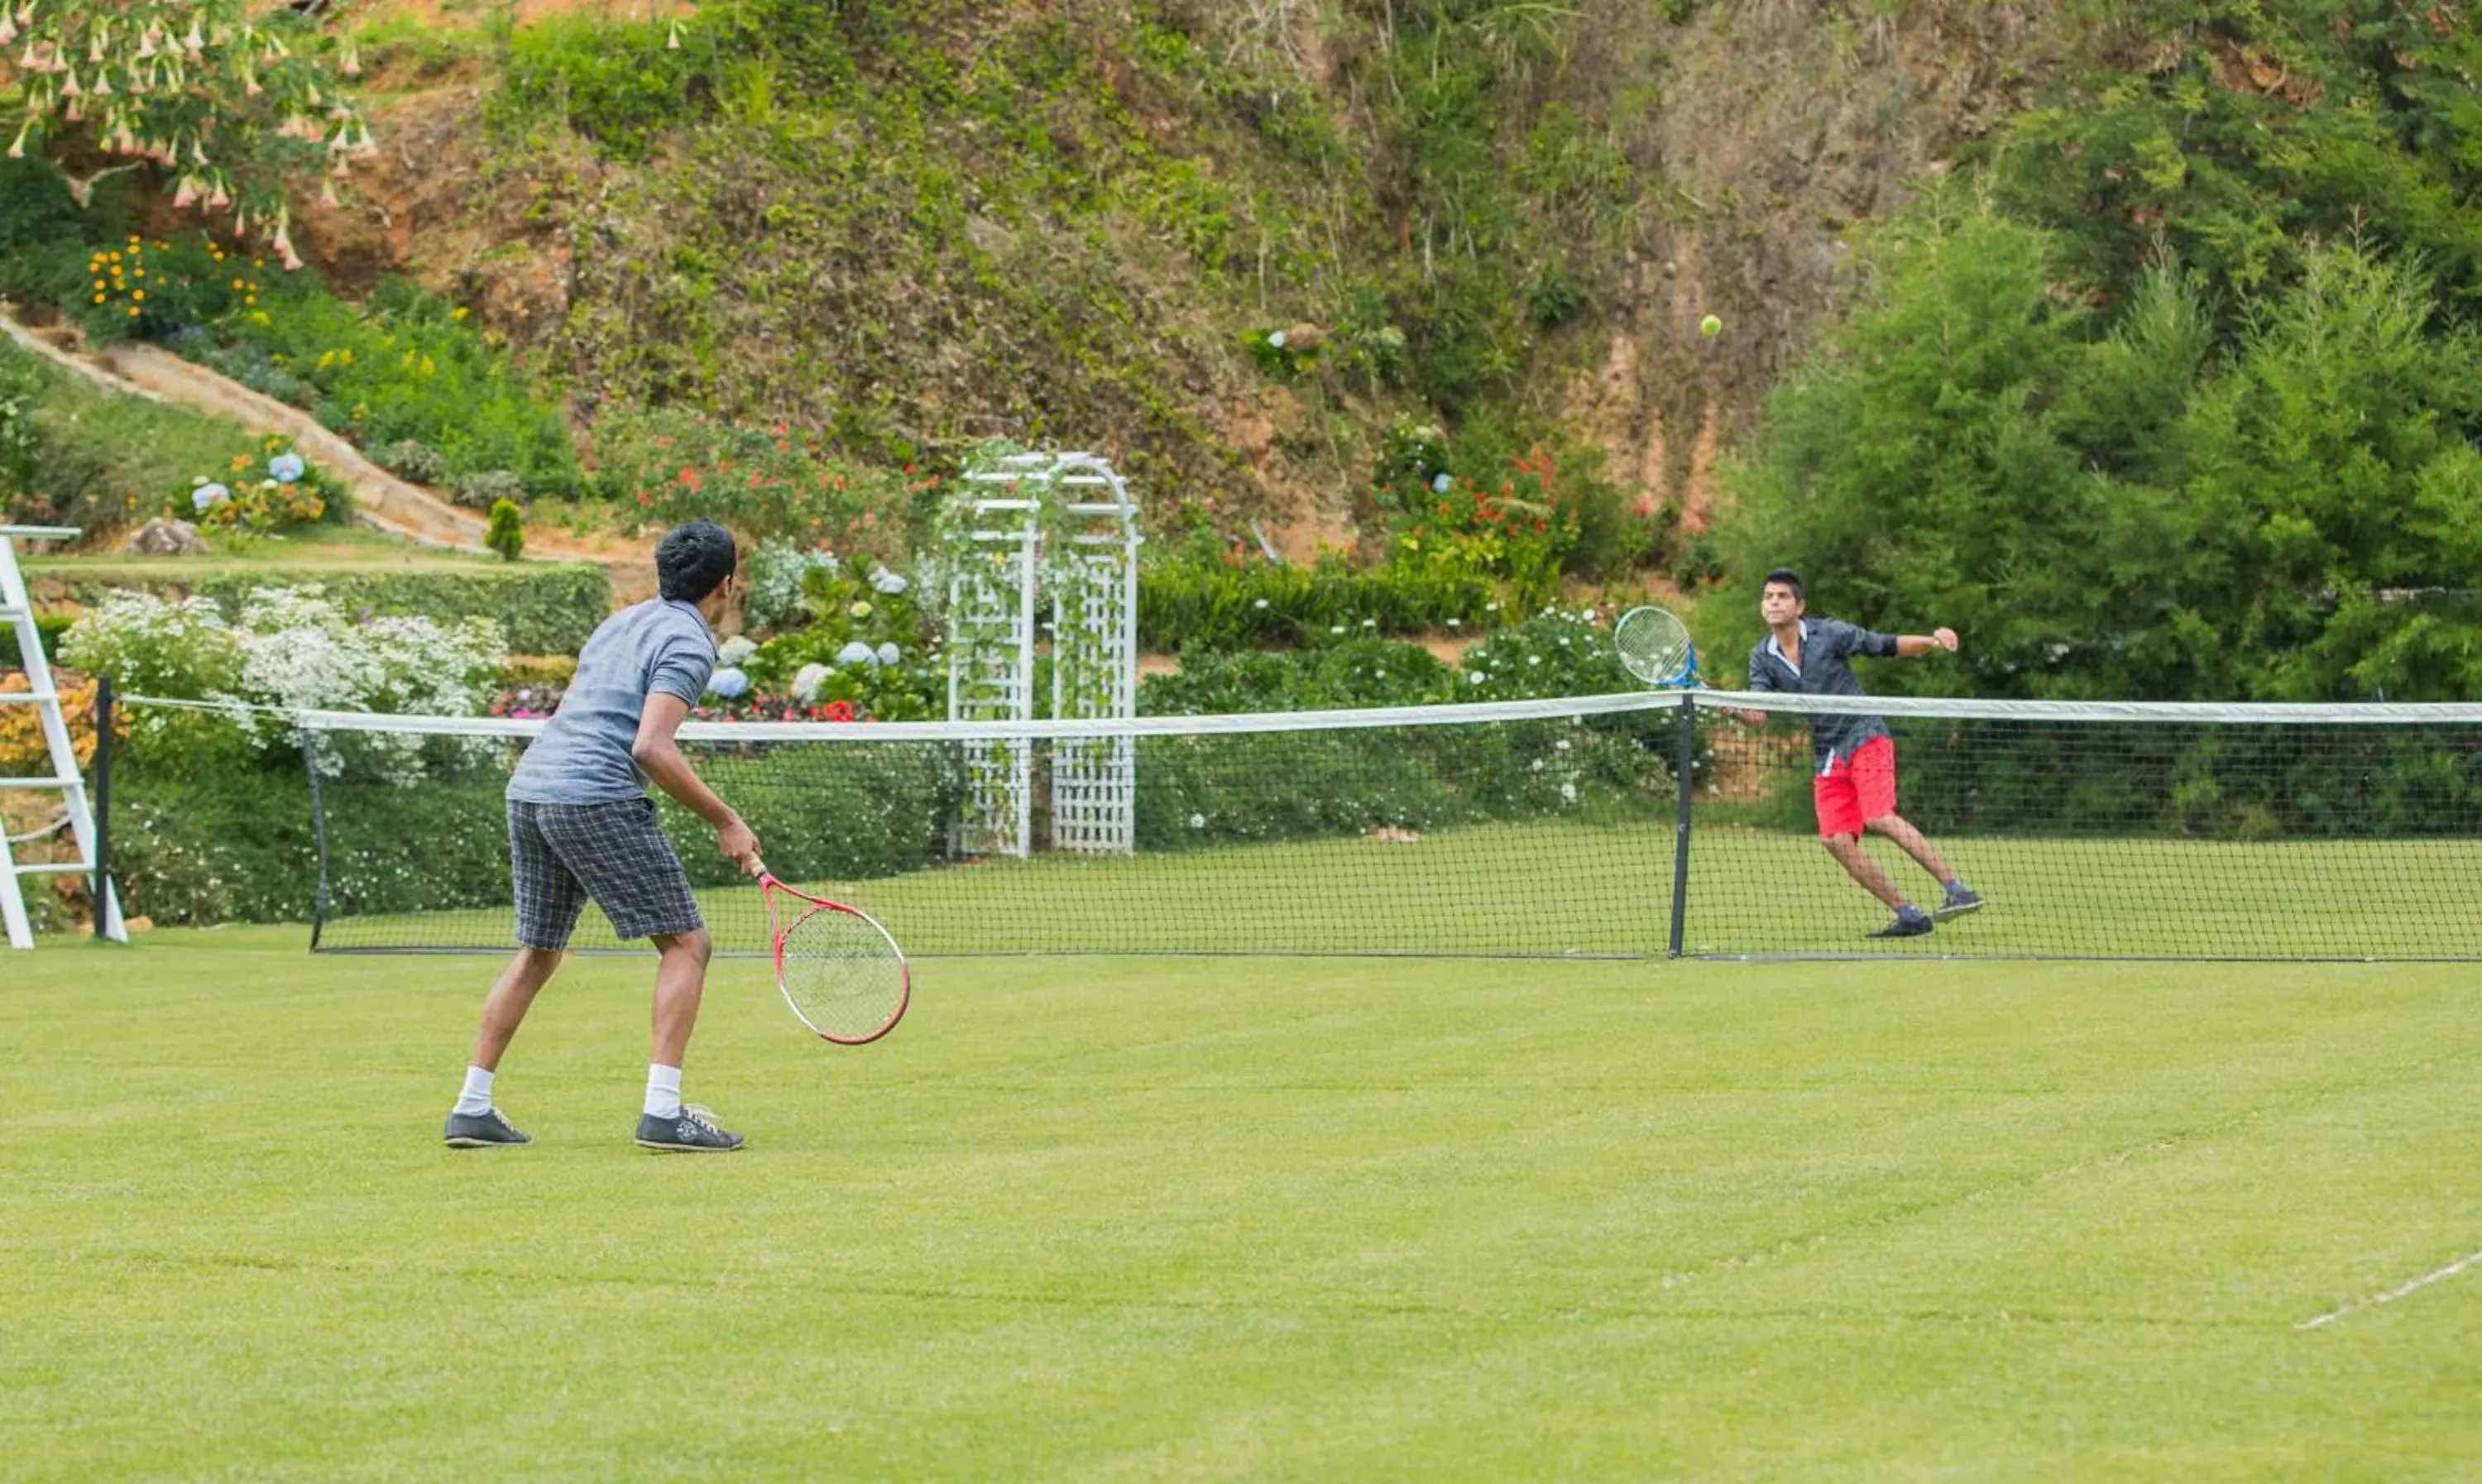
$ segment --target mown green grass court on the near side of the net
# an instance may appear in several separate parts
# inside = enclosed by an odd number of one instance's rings
[[[727,963],[628,1144],[578,963],[0,968],[10,1479],[2460,1479],[2465,968]],[[2398,1298],[2378,1300],[2393,1290]],[[2318,1315],[2326,1325],[2303,1328]]]

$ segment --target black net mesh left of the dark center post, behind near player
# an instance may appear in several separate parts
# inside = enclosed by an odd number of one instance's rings
[[[1670,710],[1139,735],[1122,804],[1097,759],[1117,740],[792,732],[685,749],[777,876],[869,911],[908,955],[1665,950]],[[524,742],[310,740],[320,948],[506,948],[501,789]],[[670,802],[663,821],[717,945],[764,950],[759,893],[712,831]],[[618,948],[596,911],[576,945]]]

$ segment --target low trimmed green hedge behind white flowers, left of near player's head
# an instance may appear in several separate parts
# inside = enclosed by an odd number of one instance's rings
[[[206,566],[206,563],[92,563],[30,561],[27,578],[65,583],[74,603],[97,603],[107,588],[146,588],[164,596],[213,598],[226,615],[241,610],[251,588],[318,583],[350,610],[437,618],[491,618],[521,655],[573,655],[586,635],[611,615],[611,576],[593,563],[472,563],[442,568],[355,566]],[[37,593],[40,601],[42,593]]]

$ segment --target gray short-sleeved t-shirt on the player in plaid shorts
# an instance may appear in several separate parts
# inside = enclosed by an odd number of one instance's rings
[[[509,799],[519,804],[608,804],[643,799],[645,774],[630,757],[645,697],[663,692],[697,705],[715,675],[715,635],[692,603],[648,598],[606,618],[561,710],[526,747]]]

